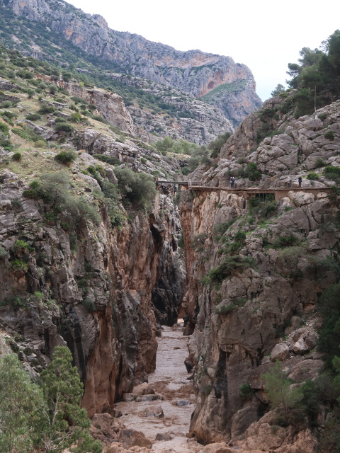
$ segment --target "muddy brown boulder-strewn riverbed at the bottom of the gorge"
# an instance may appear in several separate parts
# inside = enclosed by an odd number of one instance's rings
[[[120,421],[125,428],[142,432],[152,442],[152,452],[196,453],[202,449],[186,437],[195,408],[192,381],[188,380],[190,374],[184,365],[188,355],[187,342],[188,338],[183,336],[183,328],[179,326],[164,327],[162,337],[158,338],[157,366],[149,375],[149,386],[164,399],[115,404],[115,410],[123,413]],[[145,396],[137,400],[143,398]],[[164,416],[158,417],[161,408]],[[152,412],[156,415],[146,415]],[[156,437],[171,437],[171,440],[156,440]]]

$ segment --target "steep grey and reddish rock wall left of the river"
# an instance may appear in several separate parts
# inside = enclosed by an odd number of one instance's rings
[[[67,218],[46,222],[45,205],[23,197],[27,186],[14,173],[3,171],[0,180],[0,241],[6,251],[1,327],[33,375],[56,345],[67,345],[84,382],[89,415],[112,411],[113,401],[154,370],[152,290],[160,279],[181,287],[178,275],[168,282],[158,270],[161,256],[169,260],[169,273],[171,265],[179,266],[176,256],[167,257],[167,241],[164,249],[165,234],[176,243],[174,221],[164,227],[156,201],[149,218],[135,214],[122,231],[112,230],[101,207],[98,227],[84,219],[70,235]],[[87,193],[91,199],[91,188]],[[18,239],[29,248],[16,250]]]

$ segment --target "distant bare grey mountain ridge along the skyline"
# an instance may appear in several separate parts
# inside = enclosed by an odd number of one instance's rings
[[[205,96],[219,86],[229,86],[220,91],[217,103],[213,99],[208,102],[217,105],[234,125],[261,106],[250,69],[244,64],[235,64],[231,57],[200,50],[180,52],[139,35],[111,30],[101,16],[86,14],[64,1],[4,0],[3,4],[16,16],[44,24],[47,40],[46,31],[51,32],[51,36],[55,32],[60,47],[64,47],[61,37],[95,56],[96,62],[107,69],[171,85],[196,97]],[[27,51],[45,53],[40,43],[37,47],[38,40],[38,36],[30,37]],[[53,53],[58,59],[57,48]],[[49,52],[50,57],[52,54]],[[242,81],[241,87],[238,81]]]

